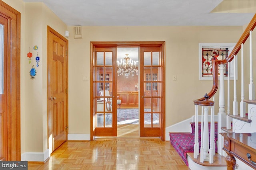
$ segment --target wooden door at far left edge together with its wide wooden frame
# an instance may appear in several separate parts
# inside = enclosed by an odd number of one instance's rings
[[[20,156],[20,12],[0,0],[0,161]]]

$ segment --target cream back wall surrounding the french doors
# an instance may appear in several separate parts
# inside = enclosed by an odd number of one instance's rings
[[[84,26],[82,39],[69,40],[69,133],[90,134],[90,41],[166,42],[166,127],[194,115],[193,100],[210,92],[212,81],[198,79],[198,43],[236,43],[241,27]],[[177,80],[172,80],[177,75]],[[239,88],[239,85],[238,85]],[[218,94],[216,94],[218,99]],[[216,102],[216,113],[218,102]]]

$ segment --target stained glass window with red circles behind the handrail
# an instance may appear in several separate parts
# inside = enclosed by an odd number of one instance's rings
[[[228,52],[229,48],[202,48],[202,77],[212,77],[212,61],[226,59]],[[225,64],[224,77],[226,76],[228,76],[228,66]]]

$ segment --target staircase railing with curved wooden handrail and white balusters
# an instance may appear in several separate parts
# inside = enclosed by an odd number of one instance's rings
[[[256,100],[255,100],[255,86],[253,82],[253,68],[256,68],[255,57],[253,59],[252,44],[253,30],[256,26],[256,15],[252,18],[244,33],[236,43],[234,49],[224,60],[213,60],[212,61],[212,77],[213,86],[212,90],[205,94],[204,97],[194,100],[195,105],[195,138],[194,138],[194,154],[193,158],[200,160],[201,163],[208,162],[208,164],[214,163],[214,114],[215,108],[218,108],[218,154],[226,156],[226,152],[222,150],[223,137],[220,135],[221,132],[234,132],[234,133],[254,133],[256,132]],[[255,36],[254,36],[255,41]],[[255,48],[254,48],[255,49]],[[255,56],[255,54],[254,54]],[[240,63],[236,63],[240,61]],[[228,74],[228,80],[224,82],[224,66],[228,64],[230,68],[230,62],[233,65],[233,78]],[[240,70],[237,70],[239,65]],[[219,68],[219,70],[218,70]],[[231,70],[228,70],[230,72]],[[239,71],[239,79],[236,80],[237,72]],[[233,79],[232,84],[230,79]],[[244,86],[245,82],[249,82],[247,86]],[[237,89],[237,84],[241,83],[241,88]],[[226,86],[225,86],[226,85]],[[231,92],[232,90],[232,92]],[[215,106],[214,95],[218,91],[219,99],[218,106]],[[225,93],[226,91],[226,93]],[[244,95],[244,92],[248,95]],[[232,97],[230,94],[233,94]],[[237,94],[241,96],[237,97]],[[232,98],[232,102],[230,102]],[[240,104],[238,104],[238,100]],[[232,109],[232,113],[230,113]],[[246,113],[247,110],[247,113]],[[201,112],[201,120],[198,120],[198,115]],[[217,112],[217,111],[216,111]],[[210,120],[208,120],[210,115]],[[202,132],[200,137],[198,136],[198,122],[200,124]],[[204,126],[204,122],[211,122],[210,127]],[[210,131],[210,139],[209,139]],[[199,143],[199,140],[200,143]],[[200,154],[199,154],[200,152]],[[239,168],[238,168],[239,169]]]

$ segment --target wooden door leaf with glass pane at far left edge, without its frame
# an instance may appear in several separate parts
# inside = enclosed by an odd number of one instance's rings
[[[0,161],[8,160],[7,28],[8,20],[0,16]]]

